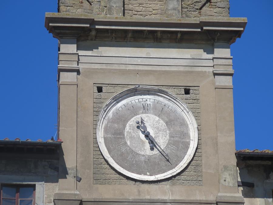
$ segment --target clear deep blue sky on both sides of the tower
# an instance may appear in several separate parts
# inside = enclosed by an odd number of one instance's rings
[[[273,1],[231,0],[231,17],[247,17],[234,56],[236,149],[273,150]],[[44,27],[57,0],[1,1],[0,139],[50,139],[57,123],[57,40]]]

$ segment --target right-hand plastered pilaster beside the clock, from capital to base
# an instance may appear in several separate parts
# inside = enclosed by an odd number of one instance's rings
[[[214,43],[219,194],[217,204],[244,204],[238,194],[233,114],[232,57],[228,43]]]

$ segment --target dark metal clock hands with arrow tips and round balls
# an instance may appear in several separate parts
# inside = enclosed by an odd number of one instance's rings
[[[155,147],[158,150],[158,152],[166,159],[166,161],[170,163],[170,157],[169,157],[169,155],[160,147],[160,145],[155,141],[155,139],[153,138],[153,136],[150,135],[150,132],[147,131],[147,127],[145,125],[145,121],[143,120],[142,117],[140,117],[140,121],[136,121],[136,124],[138,124],[136,126],[136,128],[139,129],[140,132],[144,135],[144,137],[148,140],[148,142],[150,144],[150,149],[153,149]]]

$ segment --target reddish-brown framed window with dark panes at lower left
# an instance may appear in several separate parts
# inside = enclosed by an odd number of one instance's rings
[[[2,185],[1,205],[35,205],[35,185]]]

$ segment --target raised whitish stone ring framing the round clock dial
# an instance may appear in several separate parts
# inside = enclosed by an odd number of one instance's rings
[[[112,109],[116,108],[116,105],[119,102],[126,100],[129,97],[134,97],[134,96],[157,96],[157,97],[167,100],[170,104],[172,104],[172,106],[174,106],[176,108],[176,110],[181,112],[181,114],[184,116],[184,118],[188,124],[188,127],[189,127],[188,133],[190,135],[189,136],[190,143],[189,143],[189,148],[187,150],[187,153],[184,156],[184,158],[181,159],[181,162],[176,167],[174,167],[171,170],[168,170],[165,173],[150,176],[150,175],[136,174],[136,173],[133,173],[132,171],[128,171],[115,162],[115,160],[111,157],[111,155],[109,154],[109,152],[106,148],[106,145],[104,142],[105,140],[104,140],[104,136],[103,136],[103,130],[104,130],[106,118],[107,117],[113,118],[113,116],[108,116],[108,115],[110,114]],[[193,158],[194,153],[197,148],[197,143],[198,143],[197,123],[194,118],[194,115],[192,114],[190,109],[187,107],[187,105],[183,101],[181,101],[178,97],[176,97],[175,95],[173,95],[167,91],[155,88],[155,87],[134,87],[134,88],[130,88],[125,91],[122,91],[121,93],[112,97],[106,103],[106,105],[104,106],[104,108],[101,110],[101,112],[99,114],[96,134],[97,134],[97,141],[98,141],[99,149],[102,152],[106,161],[109,162],[109,164],[113,168],[115,168],[118,172],[120,172],[126,176],[129,176],[133,179],[138,179],[138,180],[143,180],[143,181],[162,180],[162,179],[169,178],[169,177],[174,176],[177,173],[179,173],[181,170],[183,170],[189,164],[190,160]]]

